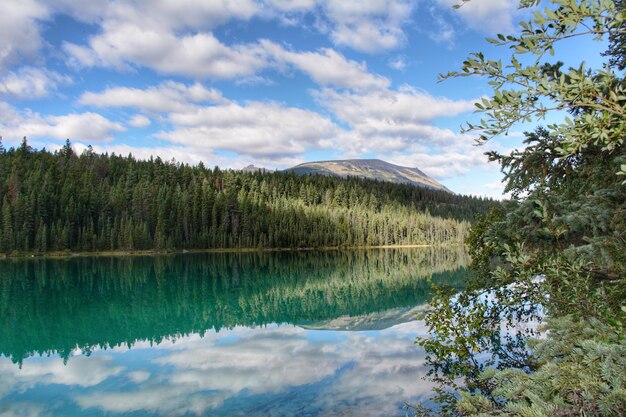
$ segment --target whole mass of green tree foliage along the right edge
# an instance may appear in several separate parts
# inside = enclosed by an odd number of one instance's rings
[[[477,53],[444,76],[492,85],[477,103],[483,120],[466,126],[479,143],[548,113],[564,121],[526,133],[523,150],[489,154],[513,201],[472,228],[475,278],[441,294],[426,320],[434,338],[418,340],[443,384],[433,415],[626,414],[626,12],[621,1],[550,3],[520,35],[490,40],[511,48],[507,65]],[[608,37],[604,68],[550,61],[583,36]]]

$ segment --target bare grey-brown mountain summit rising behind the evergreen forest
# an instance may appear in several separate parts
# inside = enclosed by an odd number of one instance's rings
[[[394,165],[380,159],[306,162],[286,171],[292,171],[297,174],[320,174],[343,178],[348,176],[361,177],[400,184],[412,184],[433,190],[450,191],[418,168]]]

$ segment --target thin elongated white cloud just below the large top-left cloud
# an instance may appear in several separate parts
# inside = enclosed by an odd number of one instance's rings
[[[191,85],[164,81],[147,89],[114,87],[102,93],[86,92],[79,103],[96,107],[131,107],[153,112],[172,112],[188,109],[197,103],[220,103],[226,100],[215,89],[200,83]]]

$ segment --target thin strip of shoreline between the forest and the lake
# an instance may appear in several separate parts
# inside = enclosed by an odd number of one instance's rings
[[[191,253],[252,253],[252,252],[305,252],[305,251],[333,251],[333,250],[369,250],[369,249],[410,249],[410,248],[435,248],[435,247],[457,247],[464,246],[462,243],[456,244],[419,244],[419,245],[378,245],[378,246],[321,246],[311,248],[207,248],[207,249],[146,249],[146,250],[114,250],[114,251],[93,251],[93,252],[72,252],[55,251],[45,253],[16,253],[0,254],[1,260],[10,259],[66,259],[77,257],[125,257],[125,256],[160,256],[160,255],[182,255]]]

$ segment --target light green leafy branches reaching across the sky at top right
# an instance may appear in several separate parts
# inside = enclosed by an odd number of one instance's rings
[[[624,80],[611,65],[591,70],[581,63],[567,72],[554,71],[555,63],[549,63],[546,54],[553,55],[556,44],[569,38],[591,36],[599,41],[608,34],[623,35],[626,10],[616,10],[612,0],[551,3],[553,7],[535,12],[533,20],[520,23],[520,35],[488,39],[513,51],[507,65],[479,52],[463,63],[460,72],[442,78],[481,76],[489,80],[493,96],[476,103],[484,119],[468,123],[465,129],[479,132],[481,142],[507,133],[517,123],[540,122],[550,112],[572,111],[571,118],[550,126],[554,135],[562,137],[561,154],[575,155],[592,144],[613,151],[623,144],[626,133]],[[532,55],[530,64],[524,63],[523,55]]]

